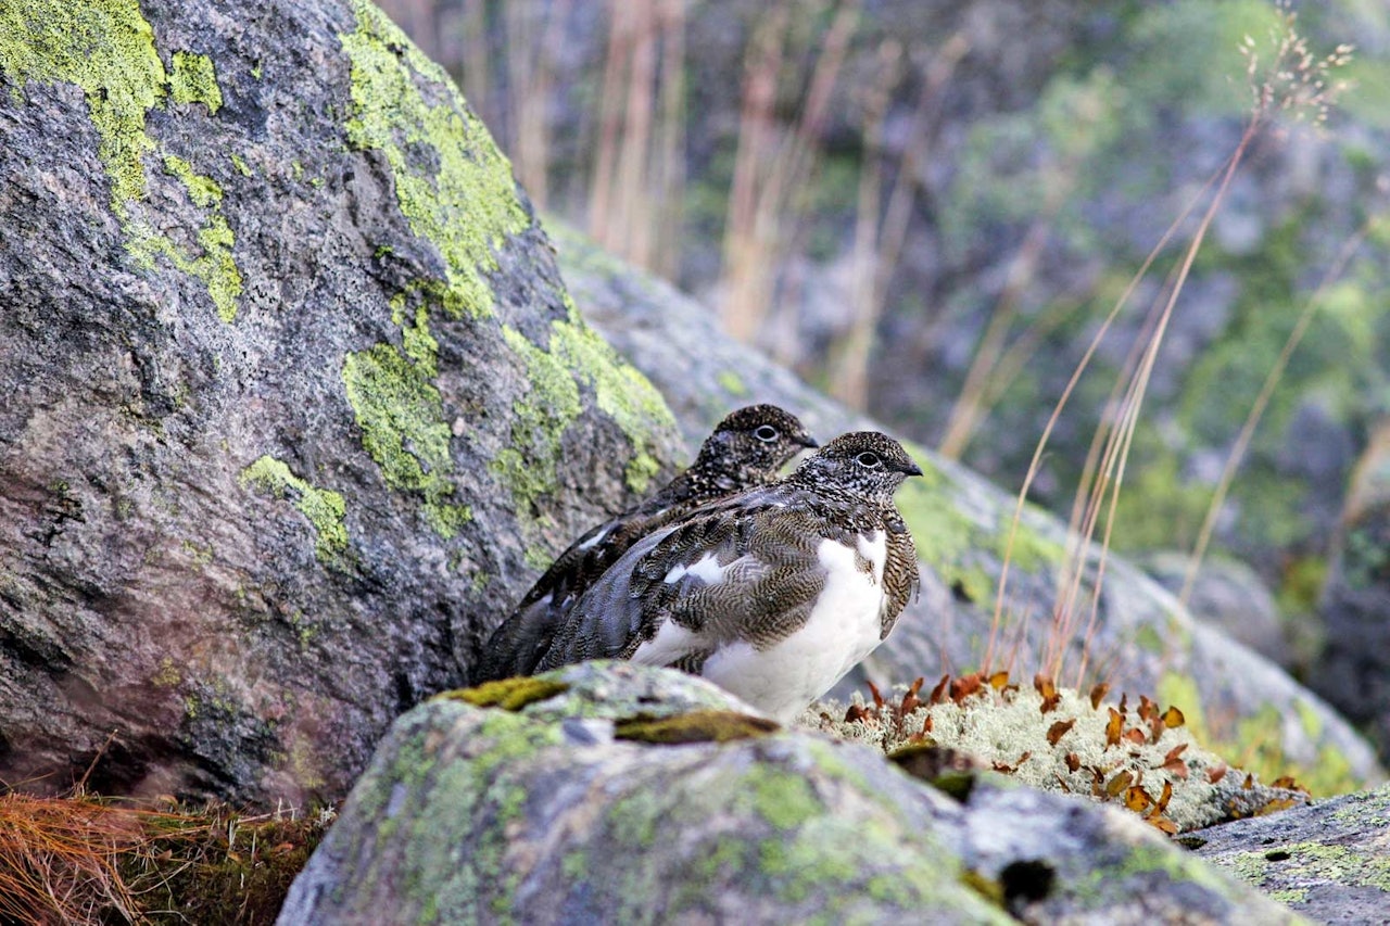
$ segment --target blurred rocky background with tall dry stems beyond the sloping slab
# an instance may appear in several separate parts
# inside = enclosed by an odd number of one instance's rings
[[[1387,544],[1369,487],[1390,420],[1390,8],[382,6],[460,81],[543,211],[1006,489],[1155,254],[1040,459],[1030,498],[1062,517],[1238,150],[1154,359],[1109,539],[1384,751]],[[1319,71],[1343,44],[1350,63]],[[1264,72],[1280,51],[1301,101],[1241,146],[1251,58]]]

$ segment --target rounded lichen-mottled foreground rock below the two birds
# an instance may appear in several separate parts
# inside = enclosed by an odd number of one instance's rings
[[[499,684],[534,697],[471,690],[396,723],[281,923],[1293,919],[1120,811],[992,776],[960,804],[862,745],[717,736],[712,715],[748,708],[699,679],[588,663]],[[705,734],[653,734],[681,722]]]

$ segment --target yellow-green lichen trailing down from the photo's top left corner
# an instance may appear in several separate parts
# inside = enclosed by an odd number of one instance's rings
[[[195,74],[211,71],[186,56],[179,65],[175,92],[190,92]],[[126,250],[136,267],[149,268],[164,254],[181,273],[202,279],[224,321],[236,314],[242,278],[232,261],[232,231],[214,213],[197,232],[203,254],[193,257],[171,238],[153,231],[153,222],[131,221],[132,204],[146,193],[145,152],[157,147],[145,131],[146,114],[164,100],[172,78],[154,47],[154,32],[140,14],[136,0],[67,4],[31,0],[0,6],[0,70],[18,85],[75,83],[86,96],[92,125],[97,131],[97,157],[111,182],[111,210],[126,234]],[[211,82],[215,90],[215,79]],[[18,90],[17,90],[18,92]],[[203,101],[211,107],[211,90],[203,88]],[[177,99],[177,97],[175,97]],[[221,96],[218,95],[218,103]],[[165,167],[170,168],[168,161]],[[177,174],[177,168],[170,168]],[[179,175],[179,174],[177,174]],[[196,204],[206,185],[189,184],[192,170],[179,175]],[[200,178],[206,179],[206,178]],[[208,181],[210,182],[210,181]]]

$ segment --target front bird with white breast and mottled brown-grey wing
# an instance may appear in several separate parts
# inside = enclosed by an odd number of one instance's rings
[[[892,630],[917,588],[894,492],[922,470],[844,434],[780,482],[634,544],[575,603],[537,670],[631,659],[703,676],[790,722]]]

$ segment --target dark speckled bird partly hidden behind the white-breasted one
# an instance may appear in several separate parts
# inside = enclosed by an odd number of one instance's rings
[[[751,405],[724,416],[688,470],[556,558],[492,633],[473,684],[535,672],[574,602],[632,544],[701,505],[771,482],[788,460],[816,446],[796,416],[776,405]]]

